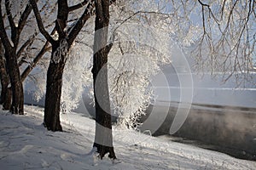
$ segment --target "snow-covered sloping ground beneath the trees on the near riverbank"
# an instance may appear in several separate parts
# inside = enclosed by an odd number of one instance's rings
[[[119,161],[99,161],[91,152],[93,120],[78,114],[61,115],[65,132],[43,125],[43,108],[25,106],[26,115],[0,112],[0,169],[256,169],[245,161],[170,139],[114,128]]]

